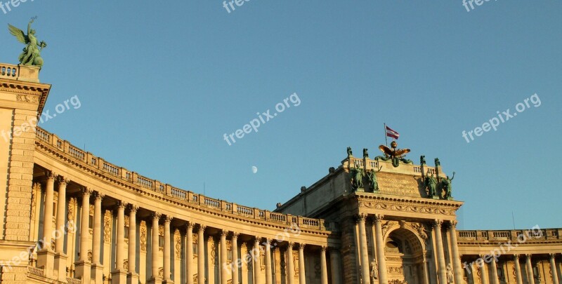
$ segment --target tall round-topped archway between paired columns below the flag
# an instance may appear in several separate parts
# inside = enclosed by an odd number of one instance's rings
[[[424,283],[424,245],[413,231],[391,231],[385,239],[384,255],[390,283]]]

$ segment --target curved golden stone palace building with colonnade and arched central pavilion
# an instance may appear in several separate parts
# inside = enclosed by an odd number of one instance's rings
[[[50,89],[38,68],[0,64],[0,284],[560,280],[562,229],[457,231],[438,163],[350,150],[275,210],[249,208],[32,127]]]

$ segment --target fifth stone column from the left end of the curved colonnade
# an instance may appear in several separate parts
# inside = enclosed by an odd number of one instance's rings
[[[111,283],[126,283],[125,261],[125,207],[127,203],[117,201],[117,240],[115,241],[115,266],[111,271]]]

